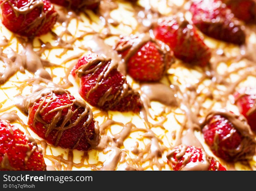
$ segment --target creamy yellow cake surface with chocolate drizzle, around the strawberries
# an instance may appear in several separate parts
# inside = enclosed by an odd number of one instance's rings
[[[127,74],[124,60],[114,50],[120,36],[154,36],[153,26],[163,17],[182,14],[192,23],[191,1],[102,0],[95,10],[79,12],[54,6],[58,20],[47,34],[25,38],[0,25],[0,118],[35,139],[47,170],[172,170],[170,151],[181,144],[200,147],[227,170],[256,169],[256,155],[233,162],[216,157],[201,131],[211,110],[239,115],[235,92],[255,87],[255,24],[243,23],[246,36],[242,45],[210,38],[197,29],[210,48],[207,66],[175,58],[161,80],[139,83]],[[98,146],[89,151],[56,147],[28,128],[28,117],[20,106],[22,96],[44,87],[63,88],[83,100],[79,80],[70,72],[83,55],[91,52],[103,54],[118,65],[117,70],[140,94],[143,107],[139,112],[104,111],[86,102],[99,124]],[[250,144],[254,145],[255,134],[250,135]]]

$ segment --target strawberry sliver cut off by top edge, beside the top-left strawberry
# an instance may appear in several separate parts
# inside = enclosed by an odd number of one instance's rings
[[[50,0],[57,5],[71,8],[71,9],[95,9],[98,7],[100,0]]]

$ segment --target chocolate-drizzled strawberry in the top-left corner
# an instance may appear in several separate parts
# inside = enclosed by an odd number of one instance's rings
[[[31,37],[46,34],[57,20],[48,0],[0,0],[2,23],[10,31]]]

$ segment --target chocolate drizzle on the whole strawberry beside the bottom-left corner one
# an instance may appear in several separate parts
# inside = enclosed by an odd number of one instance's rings
[[[63,88],[45,88],[39,92],[35,92],[34,94],[31,94],[27,97],[21,97],[21,96],[17,96],[16,97],[16,101],[17,101],[17,108],[19,108],[22,113],[24,113],[25,115],[29,115],[29,108],[32,106],[32,110],[33,107],[35,106],[35,103],[37,103],[42,97],[42,102],[40,102],[40,106],[38,107],[38,109],[35,112],[35,118],[33,121],[33,126],[36,128],[35,123],[36,122],[40,122],[42,124],[44,124],[44,126],[46,127],[46,133],[45,136],[47,137],[49,135],[49,133],[56,129],[57,133],[56,133],[56,144],[58,145],[58,142],[62,136],[62,133],[67,130],[70,129],[74,126],[76,126],[77,124],[79,124],[79,122],[84,119],[87,118],[86,122],[83,124],[83,127],[86,129],[86,127],[92,122],[93,120],[93,113],[92,110],[90,109],[90,107],[88,105],[86,105],[86,103],[79,99],[72,99],[70,100],[72,103],[71,104],[65,104],[64,106],[60,106],[57,108],[54,108],[53,110],[51,110],[49,113],[53,113],[56,112],[56,114],[54,115],[52,121],[50,124],[46,123],[42,117],[41,114],[44,112],[45,108],[47,108],[47,106],[49,106],[53,101],[55,101],[57,99],[56,94],[67,94],[69,96],[70,92],[63,89]],[[46,99],[50,98],[49,101],[47,100],[47,104],[46,106],[43,107],[43,105],[46,102]],[[76,106],[76,109],[74,111],[72,111],[72,107]],[[61,115],[62,115],[62,110],[63,109],[68,109],[67,114],[63,117],[63,121],[61,121]],[[73,122],[73,123],[69,123],[72,116],[79,110],[79,109],[83,109],[83,113],[81,113],[79,115],[79,117]],[[61,122],[60,125],[59,122]],[[68,125],[66,125],[68,124]],[[97,147],[97,145],[99,144],[99,126],[98,123],[95,122],[95,135],[94,138],[92,140],[90,140],[88,138],[88,143],[91,145],[92,148]],[[78,140],[79,142],[79,140]],[[77,144],[78,144],[77,142]],[[77,144],[75,144],[77,146]]]

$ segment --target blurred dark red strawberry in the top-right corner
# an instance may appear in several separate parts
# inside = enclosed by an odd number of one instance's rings
[[[254,0],[222,0],[234,15],[246,23],[256,22],[256,2]]]

